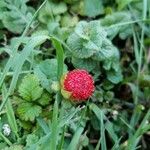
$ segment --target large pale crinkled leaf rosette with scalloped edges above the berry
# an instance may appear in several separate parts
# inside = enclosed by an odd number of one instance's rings
[[[99,21],[81,21],[69,36],[67,44],[74,57],[89,58],[101,50],[106,35]]]

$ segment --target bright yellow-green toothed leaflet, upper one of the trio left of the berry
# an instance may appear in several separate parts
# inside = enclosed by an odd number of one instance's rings
[[[43,93],[43,89],[39,84],[37,76],[33,74],[25,76],[19,86],[20,96],[27,101],[37,100]]]

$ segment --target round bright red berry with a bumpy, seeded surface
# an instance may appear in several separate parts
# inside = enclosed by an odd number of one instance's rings
[[[94,80],[86,70],[76,69],[66,74],[63,89],[71,93],[74,101],[86,100],[94,92]]]

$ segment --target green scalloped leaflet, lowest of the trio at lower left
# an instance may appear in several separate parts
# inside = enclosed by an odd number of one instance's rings
[[[35,117],[42,112],[42,108],[32,103],[22,103],[18,106],[17,112],[22,120],[34,121]]]

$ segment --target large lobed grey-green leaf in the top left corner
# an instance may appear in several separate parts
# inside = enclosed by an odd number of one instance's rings
[[[2,23],[14,33],[21,33],[33,17],[34,9],[26,5],[26,0],[4,0]]]

